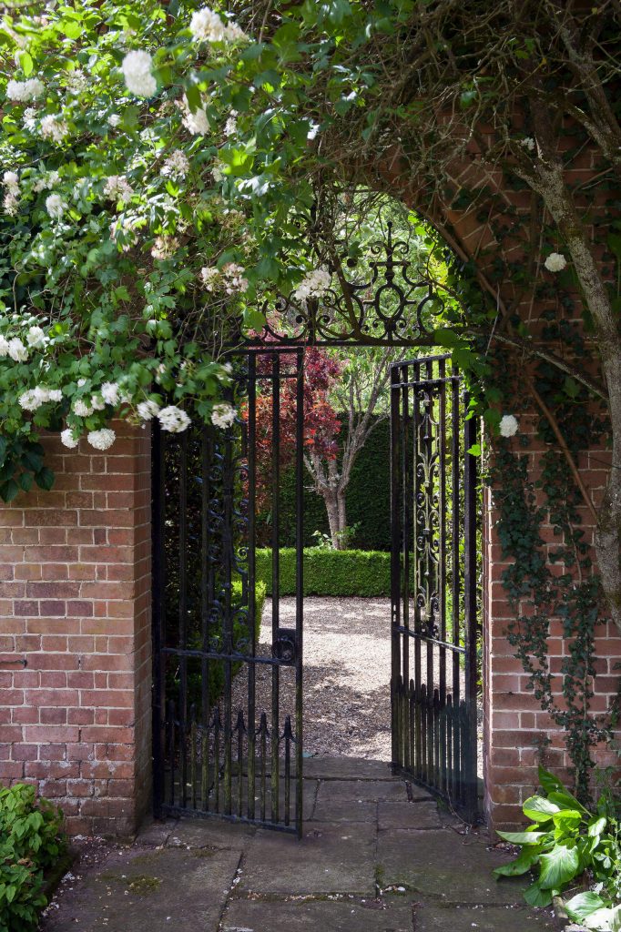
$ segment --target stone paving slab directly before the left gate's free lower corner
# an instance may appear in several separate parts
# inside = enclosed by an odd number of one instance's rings
[[[374,825],[311,823],[300,842],[259,829],[248,843],[239,890],[299,896],[375,893]]]

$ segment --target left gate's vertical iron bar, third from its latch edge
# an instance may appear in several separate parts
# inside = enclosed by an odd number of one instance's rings
[[[248,359],[248,626],[251,654],[256,654],[256,622],[255,610],[255,507],[256,507],[256,357],[251,353]],[[258,619],[261,624],[261,619]],[[256,692],[256,666],[248,665],[248,818],[255,818],[255,692]],[[242,774],[239,774],[242,782]]]

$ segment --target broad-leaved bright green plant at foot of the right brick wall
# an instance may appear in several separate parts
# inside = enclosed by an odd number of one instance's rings
[[[545,795],[531,796],[522,806],[531,826],[498,832],[521,851],[514,861],[497,868],[495,876],[515,877],[538,869],[536,881],[524,894],[531,906],[549,906],[554,897],[588,884],[590,889],[566,900],[568,914],[586,928],[618,932],[621,826],[613,800],[603,794],[592,813],[543,768],[539,781]]]

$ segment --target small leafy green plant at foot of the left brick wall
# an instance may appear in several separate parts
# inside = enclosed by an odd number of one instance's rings
[[[0,932],[34,932],[47,875],[65,851],[60,810],[34,787],[0,789]]]

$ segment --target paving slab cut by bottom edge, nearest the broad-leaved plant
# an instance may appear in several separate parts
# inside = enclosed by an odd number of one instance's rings
[[[506,906],[476,909],[424,904],[415,909],[414,923],[416,932],[524,932],[525,929],[556,932],[562,928],[547,911]]]

